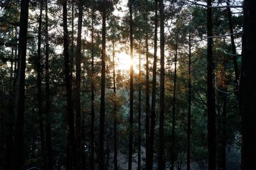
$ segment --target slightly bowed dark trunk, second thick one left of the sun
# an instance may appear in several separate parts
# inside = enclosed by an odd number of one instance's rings
[[[81,145],[81,106],[80,106],[80,95],[81,95],[81,33],[83,24],[83,3],[79,0],[77,4],[79,8],[78,12],[78,28],[77,28],[77,48],[76,48],[76,149],[77,149],[77,164],[76,169],[82,169],[82,145]]]

